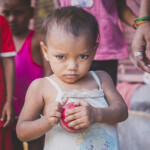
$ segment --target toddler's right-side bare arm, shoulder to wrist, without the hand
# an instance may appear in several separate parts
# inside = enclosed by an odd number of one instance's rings
[[[97,121],[110,124],[124,121],[128,116],[128,109],[123,98],[108,73],[99,71],[98,75],[109,107],[98,109],[97,113],[101,114],[101,117],[97,117]]]

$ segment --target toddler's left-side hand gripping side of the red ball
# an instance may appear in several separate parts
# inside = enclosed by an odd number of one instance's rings
[[[67,101],[68,99],[64,98],[61,103],[55,101],[47,106],[45,116],[47,117],[50,126],[54,127],[58,124],[61,118],[62,107]]]

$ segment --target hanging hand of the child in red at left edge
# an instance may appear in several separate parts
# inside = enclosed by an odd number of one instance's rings
[[[13,104],[11,102],[6,102],[3,110],[1,121],[4,123],[3,127],[8,127],[12,124],[14,117]]]

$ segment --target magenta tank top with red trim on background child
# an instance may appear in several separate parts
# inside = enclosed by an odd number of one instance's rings
[[[43,76],[42,66],[36,64],[32,59],[31,40],[34,31],[30,31],[24,44],[15,57],[16,65],[16,87],[15,87],[15,109],[19,115],[25,101],[25,94],[30,83]]]

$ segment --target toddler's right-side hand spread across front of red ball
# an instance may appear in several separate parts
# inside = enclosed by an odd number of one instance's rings
[[[69,127],[82,129],[96,122],[96,107],[82,100],[78,100],[74,104],[78,107],[68,110],[66,113],[65,121],[69,122]]]

